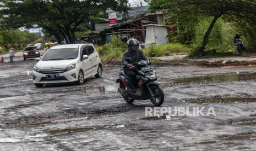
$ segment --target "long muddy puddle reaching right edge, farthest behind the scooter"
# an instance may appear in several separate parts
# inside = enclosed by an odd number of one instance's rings
[[[256,73],[243,73],[243,74],[222,74],[222,75],[209,75],[206,77],[191,77],[173,79],[173,83],[206,83],[206,82],[231,82],[243,80],[255,80]]]

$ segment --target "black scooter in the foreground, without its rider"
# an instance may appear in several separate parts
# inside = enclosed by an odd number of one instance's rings
[[[130,78],[124,73],[124,70],[121,69],[118,72],[119,79],[116,80],[116,83],[119,83],[118,92],[123,96],[124,100],[127,103],[133,103],[134,100],[150,99],[155,106],[161,106],[161,104],[164,103],[165,96],[159,83],[156,82],[157,76],[155,68],[152,66],[152,61],[141,60],[134,62],[130,58],[127,58],[126,61],[132,63],[130,69],[138,73],[136,77],[141,95],[137,96],[136,89],[132,82],[130,82]]]

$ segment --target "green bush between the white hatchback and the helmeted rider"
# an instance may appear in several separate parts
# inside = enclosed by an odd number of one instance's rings
[[[117,36],[112,36],[111,42],[102,46],[96,46],[96,50],[105,62],[111,62],[113,59],[121,60],[124,51],[127,50],[125,43]]]

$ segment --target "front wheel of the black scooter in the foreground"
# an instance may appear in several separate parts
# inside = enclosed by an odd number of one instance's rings
[[[154,96],[150,95],[150,101],[155,106],[161,106],[161,104],[164,103],[164,100],[165,100],[164,91],[158,85],[150,85],[150,89],[152,91],[152,94],[154,95]]]

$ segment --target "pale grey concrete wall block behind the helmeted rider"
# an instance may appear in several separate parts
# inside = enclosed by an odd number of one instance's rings
[[[168,44],[169,40],[167,38],[167,27],[165,26],[146,26],[146,40],[145,48],[150,47],[151,44],[163,45]]]

